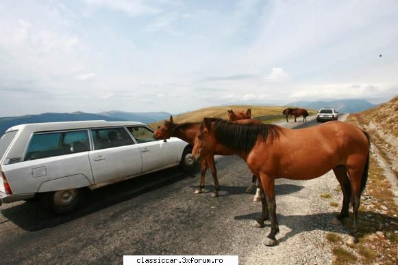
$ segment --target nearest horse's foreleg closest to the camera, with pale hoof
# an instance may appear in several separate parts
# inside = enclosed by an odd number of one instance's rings
[[[260,173],[262,187],[265,191],[266,203],[268,204],[269,214],[271,214],[271,232],[266,237],[264,245],[271,247],[277,245],[275,235],[279,232],[279,226],[276,218],[275,203],[275,178],[264,173]]]

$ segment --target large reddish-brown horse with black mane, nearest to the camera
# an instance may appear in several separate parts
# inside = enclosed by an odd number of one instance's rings
[[[306,145],[303,145],[303,141]],[[321,143],[321,144],[320,144]],[[335,221],[348,217],[353,206],[351,236],[358,242],[358,208],[360,194],[366,186],[369,168],[369,135],[345,122],[327,122],[299,130],[272,124],[234,124],[221,119],[205,118],[192,150],[195,159],[212,153],[218,146],[229,148],[247,162],[260,176],[266,197],[259,226],[271,214],[271,232],[264,244],[277,244],[279,232],[275,204],[275,178],[310,180],[333,169],[343,191],[343,207]]]

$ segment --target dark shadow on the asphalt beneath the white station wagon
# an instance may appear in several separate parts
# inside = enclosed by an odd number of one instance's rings
[[[199,169],[197,169],[199,170]],[[143,193],[148,193],[163,186],[178,182],[187,177],[194,177],[197,170],[192,173],[185,173],[178,168],[164,169],[156,173],[149,173],[144,176],[125,180],[100,189],[88,191],[86,200],[75,212],[65,216],[54,216],[45,212],[40,203],[36,201],[26,201],[14,207],[1,210],[1,214],[18,227],[30,232],[38,231],[49,227],[62,225],[84,217],[92,212],[97,212],[103,208],[127,201]],[[4,221],[7,222],[7,221]]]

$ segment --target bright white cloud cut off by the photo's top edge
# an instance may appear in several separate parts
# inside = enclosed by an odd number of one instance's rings
[[[125,12],[129,16],[154,15],[161,12],[150,1],[140,0],[86,0],[88,5],[94,7],[110,8],[111,10]]]

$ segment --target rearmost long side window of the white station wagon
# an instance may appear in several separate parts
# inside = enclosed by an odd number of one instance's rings
[[[34,160],[90,150],[87,130],[35,134],[24,160]]]

